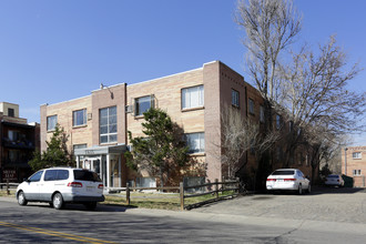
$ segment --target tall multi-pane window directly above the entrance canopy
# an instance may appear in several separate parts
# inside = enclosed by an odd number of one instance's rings
[[[100,143],[116,142],[116,106],[99,110]]]

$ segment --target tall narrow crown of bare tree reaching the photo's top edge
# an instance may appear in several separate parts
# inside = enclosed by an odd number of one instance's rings
[[[246,65],[256,88],[276,100],[279,55],[301,31],[302,17],[291,0],[240,0],[236,22],[246,33]]]

